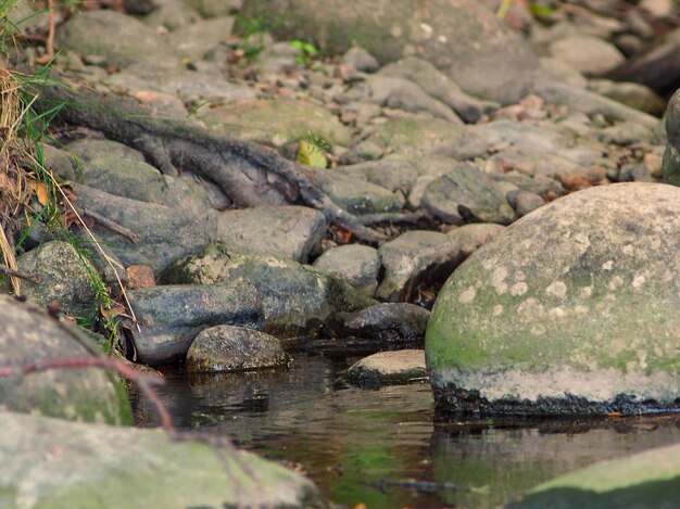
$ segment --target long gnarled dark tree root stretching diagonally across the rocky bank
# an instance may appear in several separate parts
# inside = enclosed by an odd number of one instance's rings
[[[98,130],[139,150],[165,175],[199,174],[239,207],[302,203],[360,240],[386,240],[313,186],[301,166],[273,149],[215,136],[188,120],[153,116],[130,97],[45,87],[36,104],[43,113],[59,110],[56,120]]]

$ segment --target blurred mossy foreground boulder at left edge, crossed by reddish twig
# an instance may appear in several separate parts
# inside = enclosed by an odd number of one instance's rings
[[[77,329],[7,295],[0,295],[0,366],[101,355],[95,342]],[[3,410],[85,422],[130,424],[133,420],[121,381],[98,368],[51,369],[0,379],[0,404]],[[0,435],[15,445],[35,445],[10,434],[4,425]]]

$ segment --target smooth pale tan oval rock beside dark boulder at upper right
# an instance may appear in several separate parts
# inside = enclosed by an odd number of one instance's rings
[[[584,34],[558,39],[550,46],[553,58],[585,75],[603,75],[626,59],[610,42]]]

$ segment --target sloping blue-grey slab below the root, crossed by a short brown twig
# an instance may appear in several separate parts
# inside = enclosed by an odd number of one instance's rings
[[[133,242],[97,221],[91,228],[102,249],[124,266],[150,265],[158,275],[172,262],[199,251],[209,242],[207,218],[198,220],[178,207],[138,202],[87,186],[73,183],[72,187],[78,195],[79,207],[92,211],[137,236],[137,241]],[[103,270],[105,264],[101,262],[99,252],[90,244],[84,247],[92,254],[98,269]]]

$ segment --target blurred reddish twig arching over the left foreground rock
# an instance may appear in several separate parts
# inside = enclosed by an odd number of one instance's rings
[[[162,384],[165,383],[165,381],[160,377],[136,371],[134,368],[118,359],[110,357],[65,357],[61,359],[38,360],[21,366],[0,366],[0,379],[16,374],[17,371],[21,374],[29,374],[50,369],[74,368],[114,369],[126,379],[131,380],[137,384],[142,394],[155,408],[155,411],[159,413],[159,418],[161,419],[161,427],[163,430],[171,436],[171,438],[178,436],[172,416],[163,405],[163,402],[161,402],[159,393],[152,387],[152,385]]]

